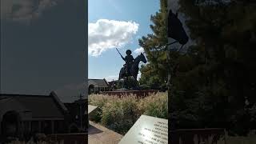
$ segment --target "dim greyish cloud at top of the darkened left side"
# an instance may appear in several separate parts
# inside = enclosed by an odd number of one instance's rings
[[[57,5],[57,1],[59,0],[1,0],[1,18],[28,24],[44,10]]]

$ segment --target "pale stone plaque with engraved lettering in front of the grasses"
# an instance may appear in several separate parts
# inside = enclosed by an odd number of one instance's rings
[[[119,144],[167,144],[168,120],[142,115]]]

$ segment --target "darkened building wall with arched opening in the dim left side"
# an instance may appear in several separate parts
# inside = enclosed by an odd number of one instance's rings
[[[34,132],[47,132],[48,134],[64,132],[64,118],[33,118],[32,112],[27,110],[26,107],[22,106],[22,104],[17,100],[10,97],[2,100],[0,103],[0,136],[2,136],[2,125],[5,125],[6,123],[6,121],[4,123],[3,118],[5,114],[10,112],[17,113],[18,117],[20,118],[18,119],[18,127],[20,128],[18,128],[19,132],[17,137],[25,138],[28,137],[28,135],[33,135]],[[47,128],[45,129],[44,127],[46,125],[48,126],[48,130],[46,130]]]

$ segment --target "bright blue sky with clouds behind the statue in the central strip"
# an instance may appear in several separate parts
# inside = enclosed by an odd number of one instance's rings
[[[159,10],[159,0],[89,0],[88,6],[89,50],[93,50],[88,57],[88,78],[116,79],[124,62],[113,43],[121,43],[118,48],[123,56],[130,49],[135,58],[138,54],[134,50],[140,48],[138,38],[152,33],[150,15]],[[105,34],[105,29],[110,29],[110,34]],[[120,39],[122,36],[125,39]]]

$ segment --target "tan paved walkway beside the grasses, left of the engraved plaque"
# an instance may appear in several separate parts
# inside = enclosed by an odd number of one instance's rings
[[[90,144],[118,144],[122,135],[104,126],[89,121],[88,143]]]

